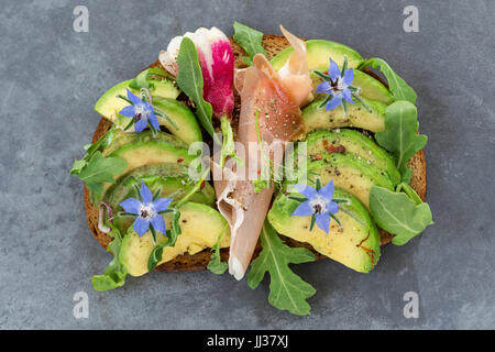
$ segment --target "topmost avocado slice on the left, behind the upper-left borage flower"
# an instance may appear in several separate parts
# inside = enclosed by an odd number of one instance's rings
[[[127,97],[127,89],[129,89],[133,95],[138,97],[140,96],[138,90],[129,87],[131,81],[132,79],[124,80],[107,90],[107,92],[96,102],[95,110],[103,118],[116,122],[120,116],[119,111],[129,106],[129,102],[119,98],[119,96]],[[153,80],[152,82],[155,86],[154,89],[150,89],[153,97],[157,96],[162,98],[175,99],[179,95],[179,90],[174,86],[174,82],[168,79]]]

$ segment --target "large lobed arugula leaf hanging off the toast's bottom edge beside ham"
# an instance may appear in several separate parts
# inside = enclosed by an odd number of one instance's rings
[[[251,263],[248,285],[253,289],[256,288],[268,272],[271,277],[268,302],[294,315],[309,315],[311,308],[306,299],[315,295],[316,289],[296,275],[288,264],[314,262],[315,255],[305,248],[289,248],[268,221],[265,221],[260,239],[263,250]]]

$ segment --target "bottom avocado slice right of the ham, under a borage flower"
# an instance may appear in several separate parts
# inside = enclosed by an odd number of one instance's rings
[[[295,193],[292,196],[299,196]],[[380,233],[363,205],[349,193],[336,188],[333,198],[345,199],[339,204],[336,220],[324,233],[315,224],[309,231],[311,217],[290,216],[299,205],[280,193],[268,212],[268,220],[278,233],[299,242],[307,242],[319,253],[360,272],[370,272],[380,258]]]

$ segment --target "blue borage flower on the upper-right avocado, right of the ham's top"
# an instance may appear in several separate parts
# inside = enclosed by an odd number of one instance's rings
[[[315,74],[323,78],[323,81],[318,85],[315,92],[328,95],[327,99],[320,105],[320,107],[327,106],[326,110],[333,110],[342,103],[344,113],[346,113],[346,103],[354,103],[352,98],[363,102],[359,94],[359,88],[352,85],[354,80],[354,69],[348,69],[348,58],[344,57],[342,70],[334,61],[330,58],[330,66],[328,68],[328,75],[315,70]]]

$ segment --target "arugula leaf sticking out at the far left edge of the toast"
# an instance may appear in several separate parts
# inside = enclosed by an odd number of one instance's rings
[[[86,187],[95,194],[103,190],[102,184],[114,184],[113,176],[120,175],[128,167],[128,162],[121,157],[103,157],[97,151],[86,166],[78,172],[78,177],[86,183]]]

